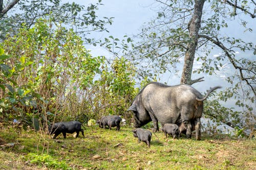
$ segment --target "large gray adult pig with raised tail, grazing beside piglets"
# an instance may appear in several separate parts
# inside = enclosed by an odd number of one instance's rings
[[[203,101],[217,88],[221,87],[210,88],[202,96],[199,91],[186,84],[168,86],[152,82],[138,93],[128,111],[134,112],[135,128],[153,121],[155,132],[159,131],[158,122],[162,127],[167,123],[179,125],[177,122],[180,119],[185,126],[187,138],[191,138],[192,122],[195,125],[196,139],[200,140]]]

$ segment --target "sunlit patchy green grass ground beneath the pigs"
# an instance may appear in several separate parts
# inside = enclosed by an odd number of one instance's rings
[[[202,134],[202,140],[152,136],[138,143],[131,127],[86,128],[85,137],[24,131],[0,124],[0,169],[253,169],[255,139]],[[13,144],[8,144],[13,143]]]

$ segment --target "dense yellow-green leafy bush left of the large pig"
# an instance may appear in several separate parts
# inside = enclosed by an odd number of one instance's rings
[[[32,124],[131,117],[125,110],[135,96],[133,65],[93,57],[72,29],[39,19],[6,39],[0,57],[3,118]]]

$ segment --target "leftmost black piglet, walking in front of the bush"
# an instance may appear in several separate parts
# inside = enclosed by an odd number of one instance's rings
[[[78,137],[79,132],[82,132],[83,130],[81,129],[81,123],[77,121],[73,122],[59,122],[59,123],[54,123],[53,125],[50,125],[48,128],[48,132],[52,135],[54,134],[54,139],[60,134],[63,134],[63,137],[66,138],[66,133],[74,133],[76,132],[76,137]]]

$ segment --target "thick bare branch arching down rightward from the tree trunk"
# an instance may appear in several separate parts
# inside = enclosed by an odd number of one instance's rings
[[[232,55],[229,53],[230,50],[228,50],[227,47],[225,47],[218,39],[215,40],[212,37],[209,37],[207,35],[198,35],[199,38],[206,38],[209,41],[211,41],[212,43],[216,44],[217,46],[219,46],[226,54],[226,56],[228,57],[229,61],[231,62],[231,64],[234,66],[234,68],[239,69],[239,73],[241,76],[241,80],[245,81],[246,84],[251,88],[251,90],[253,91],[254,95],[256,95],[255,89],[252,87],[252,85],[249,83],[247,78],[244,78],[243,75],[243,70],[246,70],[245,68],[242,68],[240,66],[237,65],[237,63],[233,60]],[[247,69],[248,70],[248,69]]]

